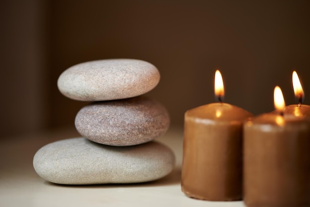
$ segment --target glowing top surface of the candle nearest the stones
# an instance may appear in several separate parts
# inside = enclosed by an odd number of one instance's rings
[[[185,113],[186,117],[208,119],[218,122],[244,121],[253,115],[243,108],[225,103],[212,103],[198,106]]]

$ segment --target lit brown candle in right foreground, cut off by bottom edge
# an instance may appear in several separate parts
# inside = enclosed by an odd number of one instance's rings
[[[244,125],[244,202],[247,207],[310,207],[310,122],[283,114],[280,88],[276,112]]]

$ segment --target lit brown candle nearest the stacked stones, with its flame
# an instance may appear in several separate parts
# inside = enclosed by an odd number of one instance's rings
[[[224,86],[215,72],[219,103],[186,111],[182,191],[191,198],[234,201],[242,198],[242,127],[248,111],[222,103]]]

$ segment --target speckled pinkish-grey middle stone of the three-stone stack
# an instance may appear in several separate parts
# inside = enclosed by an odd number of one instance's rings
[[[144,96],[95,102],[75,117],[75,127],[83,137],[112,146],[149,142],[163,135],[169,124],[165,107]]]

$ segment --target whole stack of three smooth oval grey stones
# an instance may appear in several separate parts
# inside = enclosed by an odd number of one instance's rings
[[[75,118],[83,137],[41,148],[33,160],[36,172],[58,184],[138,183],[169,174],[174,154],[153,141],[167,131],[168,112],[142,96],[159,79],[153,64],[135,59],[97,60],[65,70],[58,79],[59,91],[93,103]]]

